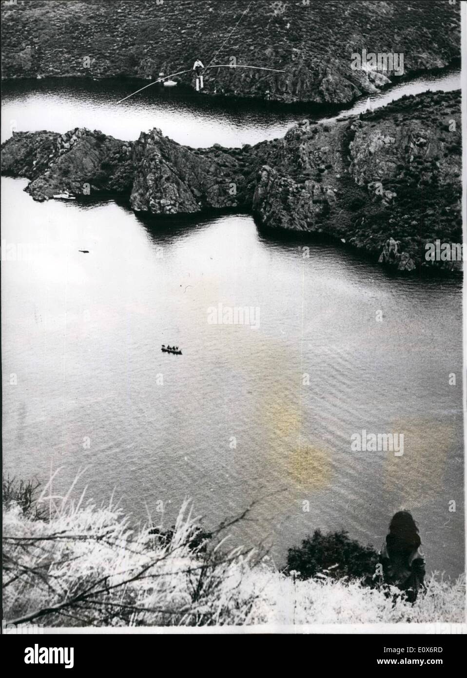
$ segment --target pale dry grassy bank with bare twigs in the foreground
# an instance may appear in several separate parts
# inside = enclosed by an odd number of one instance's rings
[[[27,487],[26,486],[23,486]],[[73,489],[73,488],[72,488]],[[229,549],[228,528],[199,538],[190,502],[173,532],[130,527],[110,502],[44,492],[3,496],[3,618],[45,626],[464,622],[464,578],[432,574],[415,605],[358,580],[279,572],[259,551]],[[206,534],[206,533],[204,533]]]

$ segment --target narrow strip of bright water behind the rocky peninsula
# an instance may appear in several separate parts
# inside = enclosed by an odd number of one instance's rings
[[[336,107],[323,109],[310,105],[291,108],[264,102],[235,101],[186,92],[186,89],[157,89],[144,92],[122,104],[117,101],[141,87],[141,81],[54,79],[13,81],[3,85],[2,141],[11,130],[48,129],[67,132],[74,127],[100,129],[119,139],[134,140],[140,132],[159,127],[171,139],[194,147],[241,146],[281,137],[304,117],[327,119],[336,115]],[[423,75],[397,83],[373,94],[374,108],[404,94],[426,89],[451,90],[460,87],[460,71],[451,69],[441,75]],[[346,115],[365,110],[367,97],[354,104]],[[325,116],[325,117],[323,117]],[[329,118],[332,119],[332,118]]]

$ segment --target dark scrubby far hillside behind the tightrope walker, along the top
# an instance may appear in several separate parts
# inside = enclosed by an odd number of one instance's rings
[[[402,53],[405,74],[460,58],[460,3],[261,0],[245,8],[243,0],[3,2],[2,77],[154,78],[216,55],[216,64],[285,73],[213,69],[205,93],[344,104],[392,77],[352,70],[352,53],[363,48]]]

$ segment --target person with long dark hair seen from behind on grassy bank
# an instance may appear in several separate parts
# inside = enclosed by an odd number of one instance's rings
[[[415,603],[425,577],[422,542],[409,511],[394,513],[389,534],[381,549],[383,578],[386,584],[397,586],[409,603]]]

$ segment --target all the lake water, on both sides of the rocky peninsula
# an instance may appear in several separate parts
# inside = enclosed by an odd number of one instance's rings
[[[274,138],[304,117],[165,94],[116,108],[131,87],[110,98],[99,84],[89,96],[83,83],[8,85],[3,119],[124,139],[157,125],[206,146]],[[391,277],[340,247],[266,238],[246,214],[161,223],[114,201],[35,203],[26,184],[2,178],[2,252],[31,252],[1,266],[5,472],[61,467],[64,490],[86,468],[77,491],[101,502],[115,489],[134,519],[158,517],[162,500],[167,524],[187,496],[207,527],[259,499],[232,544],[264,540],[279,564],[315,527],[379,547],[405,507],[428,570],[464,570],[459,279]],[[259,327],[208,323],[219,303],[258,307]],[[403,456],[352,452],[363,428],[403,433]]]

